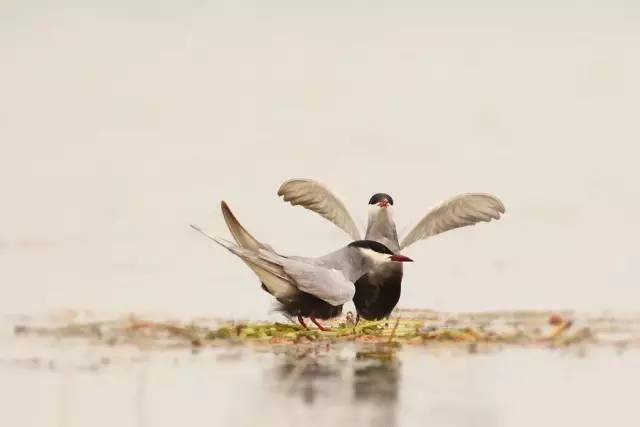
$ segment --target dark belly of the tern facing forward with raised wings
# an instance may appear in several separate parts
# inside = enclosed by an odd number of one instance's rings
[[[360,317],[367,320],[388,317],[400,300],[401,284],[401,264],[386,266],[358,279],[353,303]]]

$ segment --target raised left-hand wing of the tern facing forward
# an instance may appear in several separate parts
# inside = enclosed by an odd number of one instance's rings
[[[311,179],[290,179],[278,189],[278,196],[293,206],[300,205],[328,219],[344,230],[353,240],[360,240],[360,231],[351,214],[335,194]]]

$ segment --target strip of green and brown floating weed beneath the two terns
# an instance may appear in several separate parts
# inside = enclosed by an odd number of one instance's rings
[[[376,343],[393,346],[476,345],[551,346],[576,344],[639,347],[640,316],[581,316],[571,312],[437,313],[398,311],[390,319],[353,324],[352,317],[329,322],[326,332],[293,323],[244,323],[198,319],[73,321],[60,326],[16,324],[19,337],[82,339],[106,345],[150,348],[232,345]]]

